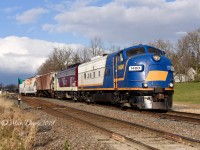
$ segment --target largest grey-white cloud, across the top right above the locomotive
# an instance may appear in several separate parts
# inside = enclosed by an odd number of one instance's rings
[[[75,32],[99,36],[109,42],[150,42],[159,38],[174,40],[179,31],[200,27],[199,0],[115,0],[103,6],[85,4],[60,12],[49,32]]]

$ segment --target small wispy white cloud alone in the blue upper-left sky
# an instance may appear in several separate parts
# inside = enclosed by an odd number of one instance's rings
[[[44,13],[48,13],[48,11],[43,8],[33,8],[21,14],[17,14],[16,20],[21,24],[35,23],[40,15]]]

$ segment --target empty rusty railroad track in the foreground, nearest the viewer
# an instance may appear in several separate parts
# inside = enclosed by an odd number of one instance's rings
[[[71,117],[93,128],[98,128],[112,138],[134,145],[137,149],[199,149],[200,141],[152,129],[127,121],[94,114],[91,112],[57,105],[43,100],[24,98],[23,101],[33,107],[41,107],[44,111],[62,117]],[[184,144],[183,144],[184,143]]]

